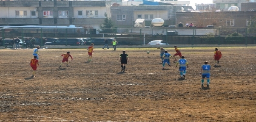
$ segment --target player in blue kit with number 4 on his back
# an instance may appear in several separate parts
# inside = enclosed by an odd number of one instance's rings
[[[201,66],[201,72],[200,74],[202,75],[202,86],[204,86],[204,80],[205,77],[207,78],[207,87],[209,87],[209,83],[210,83],[210,65],[208,64],[207,61],[205,61],[205,64]]]

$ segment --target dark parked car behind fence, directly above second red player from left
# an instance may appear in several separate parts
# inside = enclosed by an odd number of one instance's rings
[[[46,45],[85,45],[85,42],[82,39],[78,38],[67,38],[67,39],[57,39],[53,42],[46,42]]]

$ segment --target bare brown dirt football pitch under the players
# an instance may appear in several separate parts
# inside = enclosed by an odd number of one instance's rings
[[[34,78],[33,50],[0,50],[0,122],[255,122],[256,47],[220,47],[218,67],[214,48],[180,48],[185,79],[173,59],[161,69],[156,48],[95,49],[91,62],[85,49],[40,49]],[[130,58],[125,73],[122,50]],[[58,69],[67,51],[74,61]],[[204,61],[212,66],[209,88],[201,87]]]

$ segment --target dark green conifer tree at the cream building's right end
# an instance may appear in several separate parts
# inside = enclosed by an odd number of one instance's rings
[[[104,23],[100,24],[100,33],[115,33],[117,32],[117,28],[113,28],[113,23],[111,22],[111,18],[108,17],[108,14],[104,14],[105,19]]]

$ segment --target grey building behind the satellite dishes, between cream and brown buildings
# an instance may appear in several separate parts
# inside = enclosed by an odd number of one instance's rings
[[[176,23],[176,12],[181,11],[181,6],[112,6],[111,21],[118,28],[134,28],[136,19],[145,19],[145,26],[151,25],[154,18],[162,18],[163,26]]]

